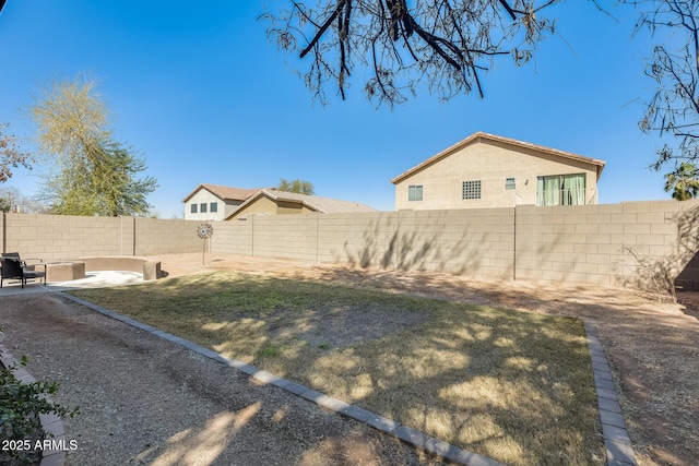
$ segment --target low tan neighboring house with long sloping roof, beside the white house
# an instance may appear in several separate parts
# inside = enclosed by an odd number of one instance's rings
[[[235,211],[224,219],[245,219],[254,214],[339,214],[350,212],[376,212],[358,202],[339,201],[335,199],[319,198],[317,195],[297,194],[294,192],[279,191],[275,189],[262,189],[238,205]]]

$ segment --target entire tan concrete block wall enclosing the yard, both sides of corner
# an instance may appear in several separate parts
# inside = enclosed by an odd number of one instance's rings
[[[199,252],[200,222],[4,214],[3,251],[44,260]],[[699,289],[699,201],[256,215],[215,222],[209,251],[355,267]],[[688,266],[689,264],[689,266]],[[688,268],[689,267],[689,268]],[[692,272],[694,271],[694,272]]]

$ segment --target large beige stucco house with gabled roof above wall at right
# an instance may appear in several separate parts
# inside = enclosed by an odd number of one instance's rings
[[[597,203],[605,163],[477,132],[393,178],[395,208]]]

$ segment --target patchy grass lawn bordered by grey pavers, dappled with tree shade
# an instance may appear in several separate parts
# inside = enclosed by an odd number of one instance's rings
[[[501,463],[605,462],[576,318],[227,271],[74,295]]]

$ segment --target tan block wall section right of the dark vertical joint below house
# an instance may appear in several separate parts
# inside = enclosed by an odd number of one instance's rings
[[[663,288],[697,252],[697,201],[517,208],[516,278]],[[696,218],[695,218],[696,217]]]

